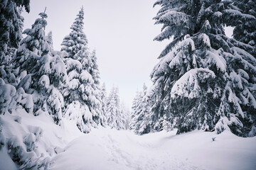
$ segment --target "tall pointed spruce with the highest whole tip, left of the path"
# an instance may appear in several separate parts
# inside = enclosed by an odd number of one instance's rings
[[[88,48],[83,32],[83,8],[79,11],[71,26],[71,33],[63,43],[62,51],[67,52],[65,65],[68,72],[68,87],[63,91],[66,105],[66,118],[77,121],[82,132],[90,132],[102,119],[99,91],[99,79],[94,67],[97,67],[95,53]],[[95,57],[93,62],[92,57]],[[97,70],[98,71],[98,70]],[[74,112],[76,110],[77,112]],[[79,110],[79,111],[78,111]]]

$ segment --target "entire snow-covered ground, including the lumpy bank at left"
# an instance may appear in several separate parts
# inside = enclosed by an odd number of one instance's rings
[[[256,137],[242,138],[228,130],[220,135],[198,130],[175,135],[175,130],[163,130],[139,136],[129,130],[98,128],[83,134],[75,122],[63,119],[58,126],[47,113],[35,117],[23,109],[0,115],[0,128],[0,143],[4,142],[0,149],[0,170],[28,167],[254,170],[256,167]],[[14,159],[18,155],[22,165],[14,163],[10,155]]]

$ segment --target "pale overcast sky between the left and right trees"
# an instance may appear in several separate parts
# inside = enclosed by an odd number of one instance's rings
[[[155,42],[160,26],[152,18],[159,8],[155,0],[44,0],[31,1],[31,12],[23,13],[24,28],[31,28],[38,13],[48,14],[46,34],[53,31],[53,46],[70,33],[81,6],[85,10],[84,32],[91,50],[96,49],[101,82],[107,91],[119,86],[121,100],[131,106],[137,89],[151,85],[149,74],[167,42]]]

